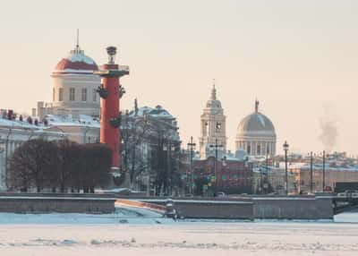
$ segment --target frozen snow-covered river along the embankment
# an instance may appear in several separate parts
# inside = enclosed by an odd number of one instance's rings
[[[0,222],[0,255],[358,255],[358,213],[336,222],[174,222],[120,209],[115,216],[0,214]]]

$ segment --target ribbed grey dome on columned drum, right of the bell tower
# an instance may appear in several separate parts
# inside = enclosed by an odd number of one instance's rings
[[[257,99],[255,112],[244,117],[237,126],[235,148],[250,156],[276,155],[275,127],[266,115],[259,112]]]

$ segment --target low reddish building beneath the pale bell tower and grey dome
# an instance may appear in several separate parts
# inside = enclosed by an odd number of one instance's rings
[[[215,157],[193,161],[194,183],[196,192],[209,194],[213,192],[252,193],[252,163],[236,158],[217,159]],[[215,178],[217,173],[217,180]]]

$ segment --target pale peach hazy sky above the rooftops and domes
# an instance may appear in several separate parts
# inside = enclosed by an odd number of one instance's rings
[[[123,107],[161,105],[178,119],[186,144],[200,136],[212,79],[227,116],[228,145],[237,124],[260,110],[300,152],[323,149],[320,118],[337,120],[334,150],[358,154],[358,1],[1,1],[0,107],[30,113],[50,101],[50,73],[74,47],[107,61],[119,47]],[[118,58],[117,58],[118,60]],[[327,114],[328,112],[328,114]]]

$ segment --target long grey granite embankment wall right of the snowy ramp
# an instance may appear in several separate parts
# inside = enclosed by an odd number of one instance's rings
[[[127,198],[130,199],[130,198]],[[132,200],[165,205],[166,199]],[[174,198],[175,209],[184,218],[227,219],[332,219],[332,201],[314,196],[260,196],[242,198]]]

